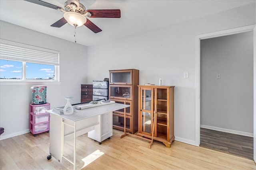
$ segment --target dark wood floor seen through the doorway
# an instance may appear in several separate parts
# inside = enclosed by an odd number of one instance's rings
[[[253,137],[200,128],[200,147],[253,160]]]

